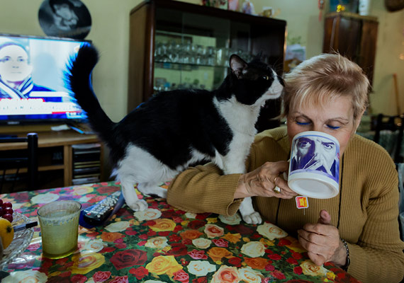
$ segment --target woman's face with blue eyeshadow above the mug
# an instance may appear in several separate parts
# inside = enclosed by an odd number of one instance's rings
[[[323,105],[291,108],[287,117],[288,137],[291,143],[293,137],[300,132],[325,132],[340,142],[340,154],[342,154],[360,120],[361,115],[354,122],[352,101],[346,96],[335,98]]]

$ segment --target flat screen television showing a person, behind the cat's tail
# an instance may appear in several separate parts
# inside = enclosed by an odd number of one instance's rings
[[[84,122],[64,79],[69,58],[84,42],[0,35],[0,124]]]

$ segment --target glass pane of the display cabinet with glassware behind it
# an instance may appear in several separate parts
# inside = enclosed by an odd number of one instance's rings
[[[154,91],[218,88],[230,54],[251,59],[249,25],[168,8],[156,12]]]

